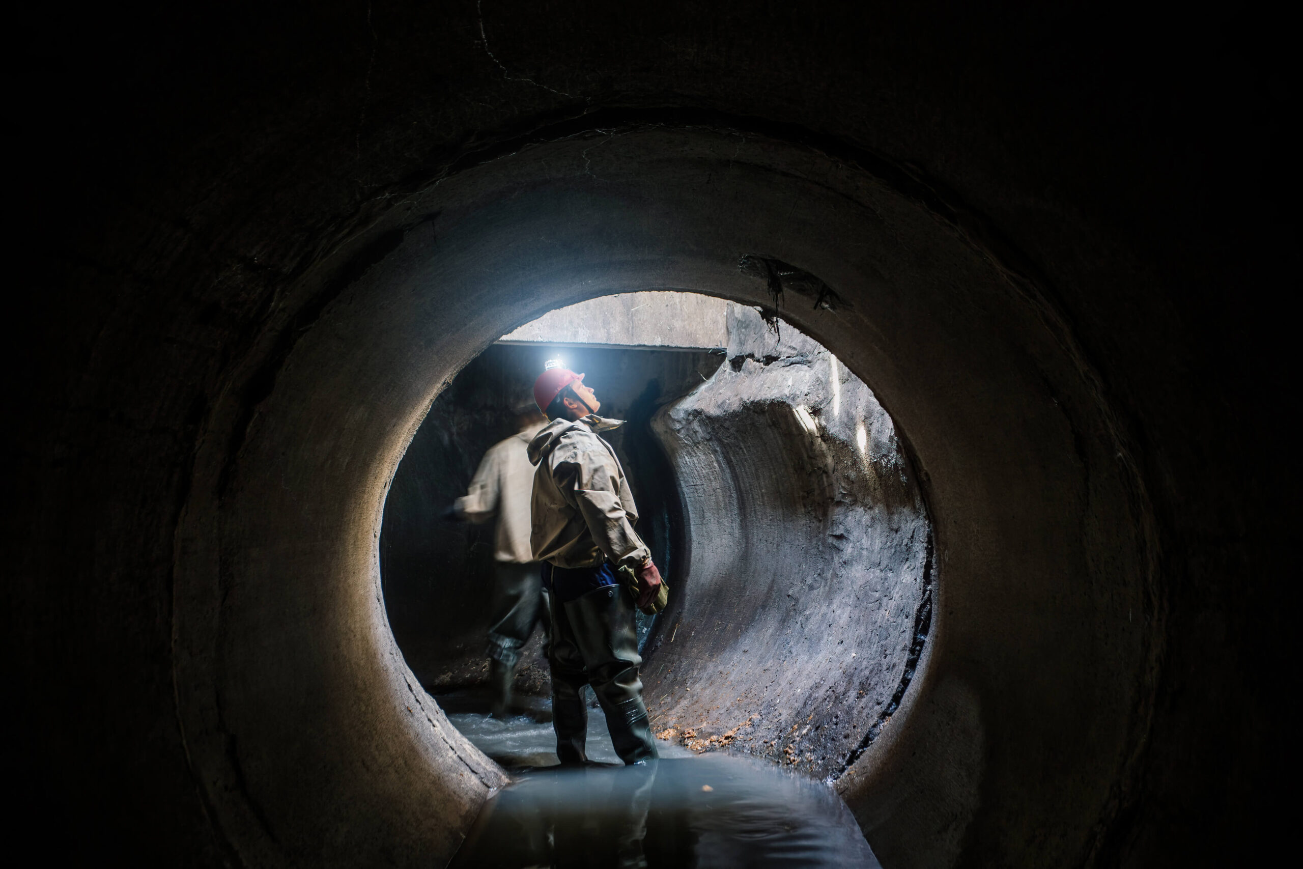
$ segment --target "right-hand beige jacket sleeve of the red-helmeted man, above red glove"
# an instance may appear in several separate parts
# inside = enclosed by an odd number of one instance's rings
[[[652,551],[620,503],[620,472],[605,449],[576,451],[552,466],[552,479],[584,517],[593,541],[618,565],[637,567]]]

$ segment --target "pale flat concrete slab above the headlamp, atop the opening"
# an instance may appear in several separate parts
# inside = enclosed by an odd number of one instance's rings
[[[700,293],[618,293],[549,311],[502,340],[713,349],[727,340],[724,305]]]

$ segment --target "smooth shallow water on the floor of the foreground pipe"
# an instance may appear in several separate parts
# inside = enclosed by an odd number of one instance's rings
[[[486,804],[452,866],[878,866],[825,784],[709,754],[539,767]]]

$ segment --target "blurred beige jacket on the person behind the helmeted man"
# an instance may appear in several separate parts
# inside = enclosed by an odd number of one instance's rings
[[[476,522],[498,517],[494,539],[494,559],[528,564],[534,560],[529,545],[529,499],[534,486],[534,466],[525,448],[542,425],[521,429],[517,434],[499,440],[480,461],[470,489],[459,498],[457,512]]]

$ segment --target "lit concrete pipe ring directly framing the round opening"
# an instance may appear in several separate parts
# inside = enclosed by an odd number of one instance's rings
[[[422,696],[388,633],[375,541],[397,460],[434,390],[549,307],[666,287],[773,305],[739,268],[751,249],[835,289],[833,307],[794,291],[782,311],[863,373],[930,477],[932,671],[900,741],[857,761],[848,804],[886,859],[945,864],[981,791],[1025,792],[1031,776],[1045,782],[1036,822],[1062,836],[1040,848],[1088,847],[1136,748],[1157,614],[1143,486],[1081,361],[988,257],[872,176],[831,190],[810,180],[826,158],[727,134],[585,147],[537,146],[413,201],[405,223],[438,216],[322,310],[257,414],[210,421],[177,532],[176,681],[192,763],[236,847],[255,861],[321,842],[344,861],[451,855],[506,779]],[[792,195],[795,214],[774,207]],[[749,220],[726,219],[739,212]],[[929,293],[943,293],[939,314]],[[1085,555],[1091,533],[1108,537],[1106,562]],[[1027,808],[994,800],[989,835]]]

